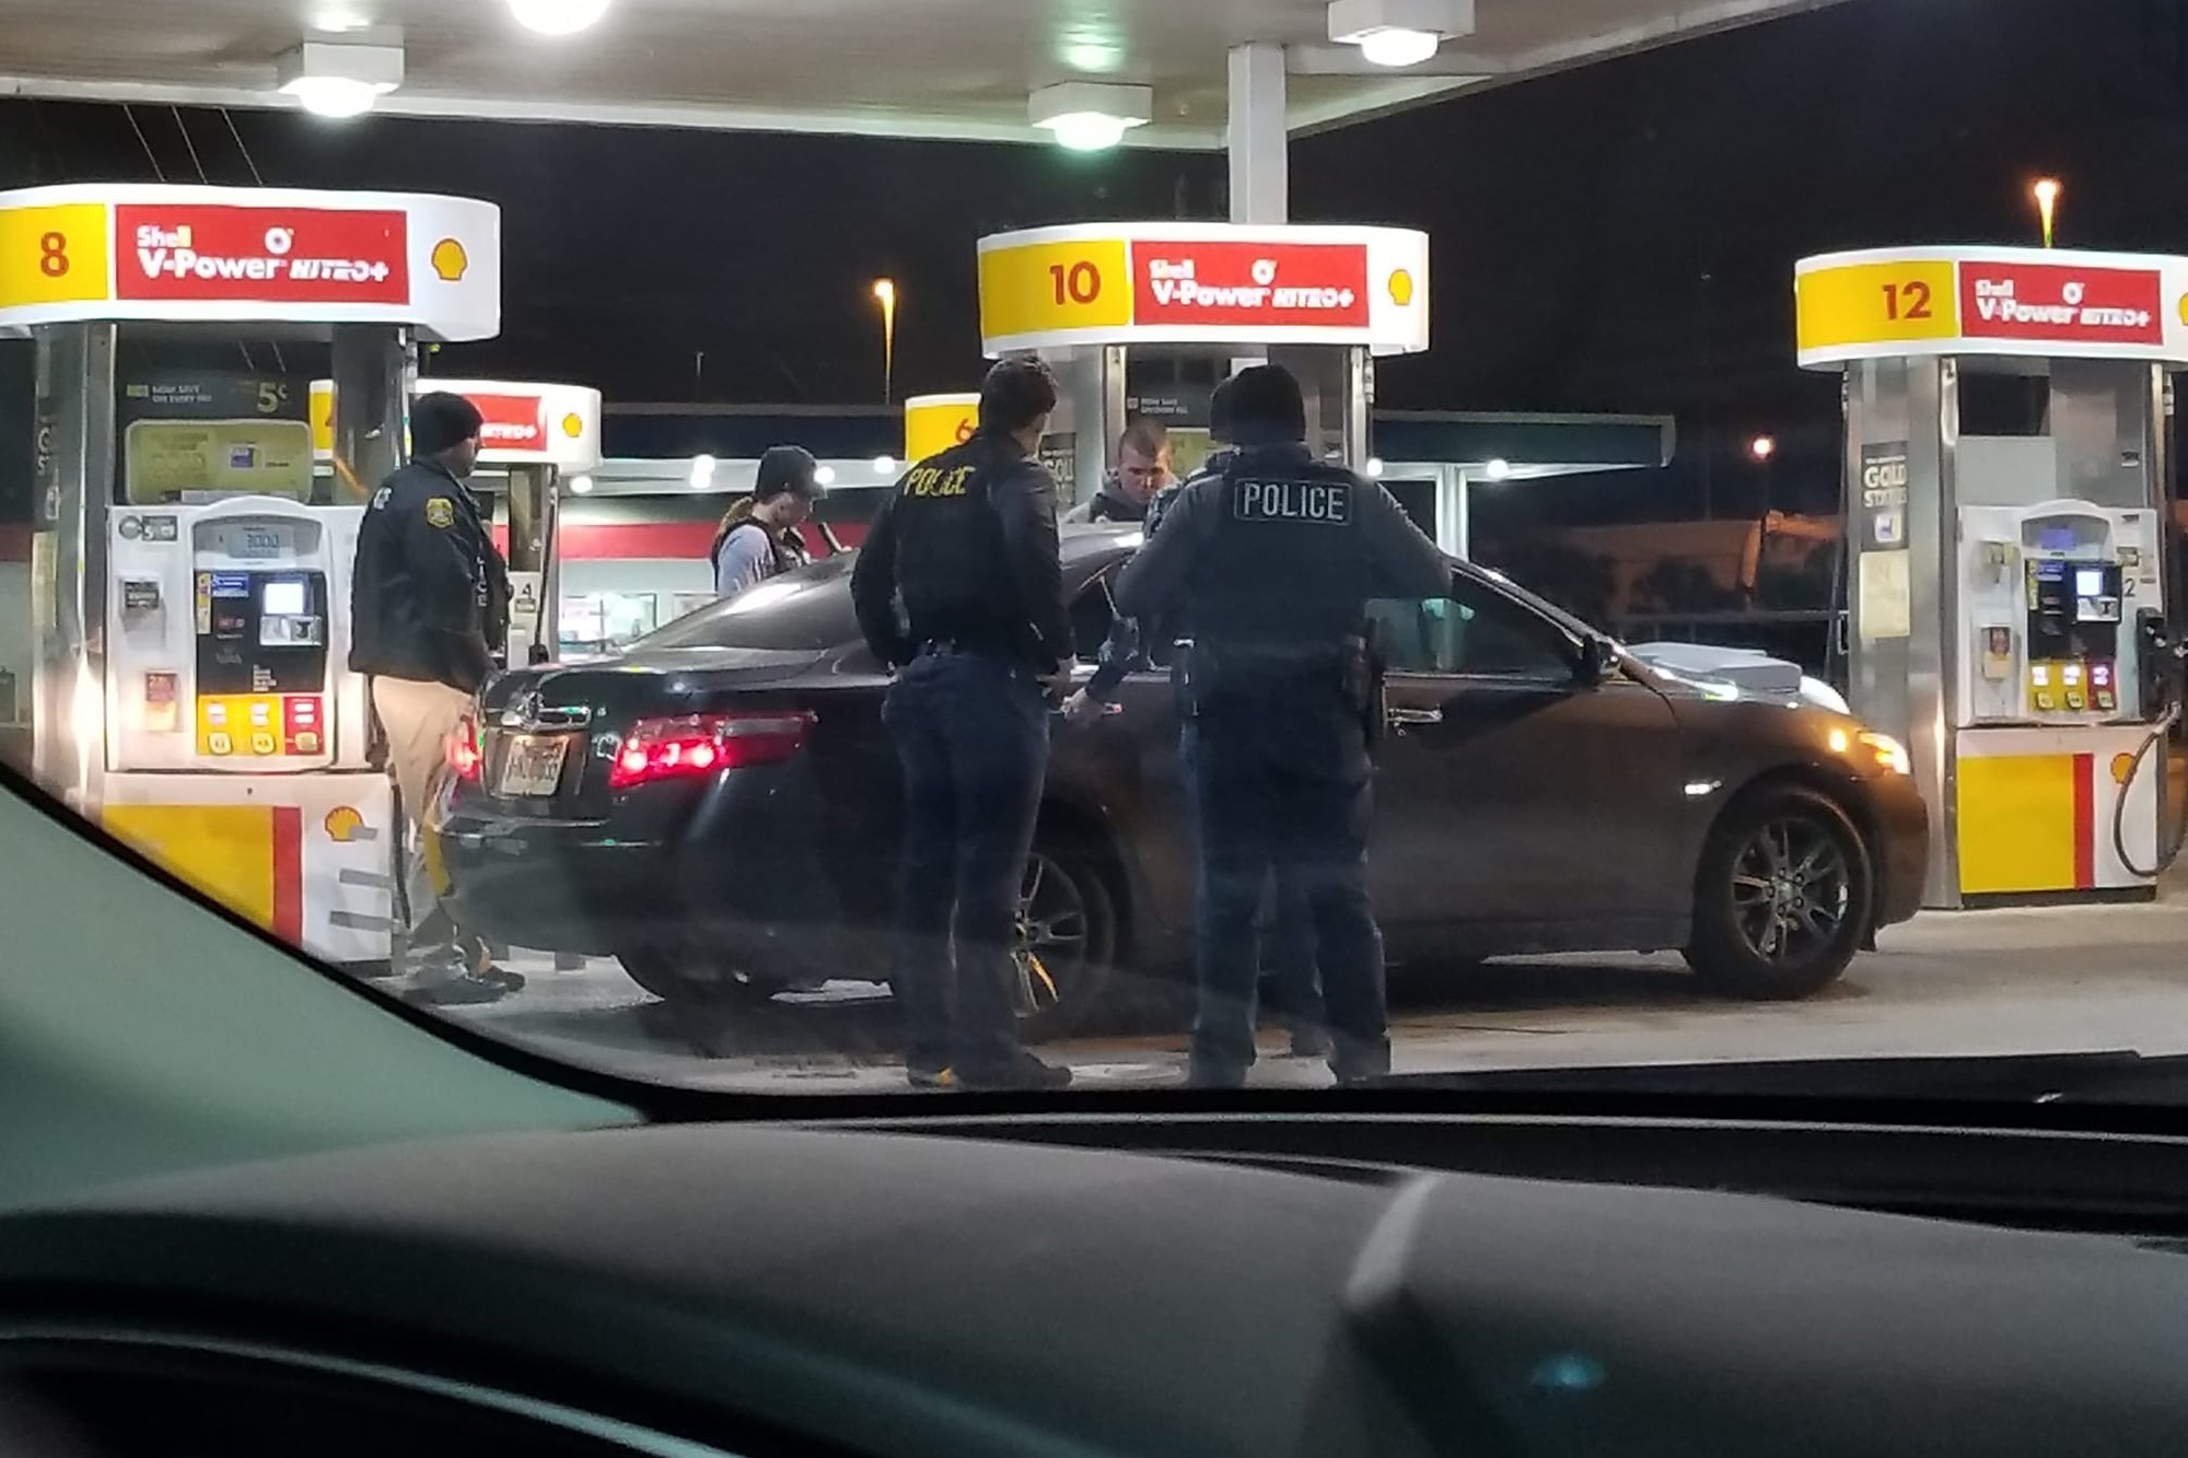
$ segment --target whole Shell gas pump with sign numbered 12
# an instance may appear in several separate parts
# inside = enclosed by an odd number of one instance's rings
[[[1796,315],[1844,370],[1849,701],[1908,744],[1925,904],[2155,895],[2188,258],[1827,254]]]

